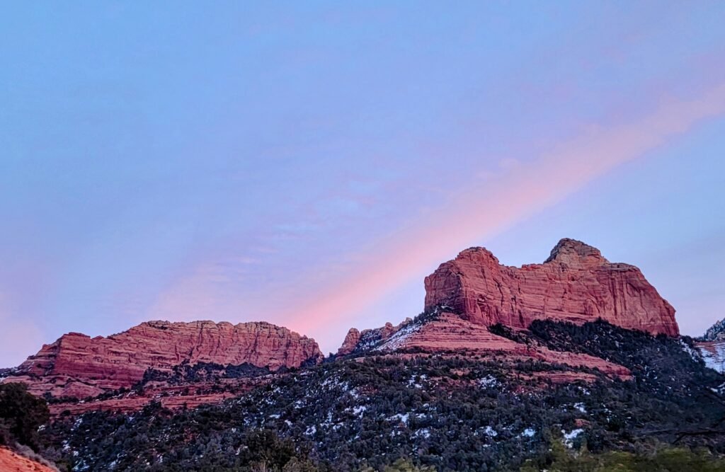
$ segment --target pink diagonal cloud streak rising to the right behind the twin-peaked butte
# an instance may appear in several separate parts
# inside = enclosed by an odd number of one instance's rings
[[[457,192],[444,206],[381,241],[376,254],[350,268],[348,278],[313,293],[301,307],[298,303],[278,320],[323,341],[341,323],[349,327],[345,315],[360,312],[461,249],[500,233],[701,120],[724,112],[725,83],[695,99],[663,102],[650,115],[629,123],[590,128],[584,136],[534,162],[513,167],[497,180]],[[401,318],[405,315],[410,313]]]

